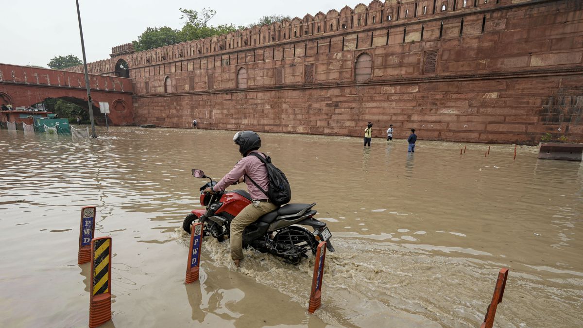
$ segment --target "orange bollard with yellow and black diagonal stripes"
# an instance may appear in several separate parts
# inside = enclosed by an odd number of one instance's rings
[[[91,252],[91,296],[89,327],[111,319],[111,237],[93,239]]]

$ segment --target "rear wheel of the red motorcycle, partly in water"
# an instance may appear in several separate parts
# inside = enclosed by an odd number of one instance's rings
[[[307,258],[307,252],[316,253],[318,242],[310,231],[301,226],[288,226],[280,230],[273,238],[278,256],[287,263],[298,264]]]

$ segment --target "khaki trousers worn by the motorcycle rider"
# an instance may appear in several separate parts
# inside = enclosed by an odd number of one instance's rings
[[[243,259],[243,231],[245,227],[257,221],[261,215],[273,212],[277,208],[276,205],[266,201],[258,202],[257,207],[249,204],[231,221],[230,239],[233,260]]]

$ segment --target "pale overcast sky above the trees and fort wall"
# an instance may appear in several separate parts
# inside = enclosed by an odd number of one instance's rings
[[[111,47],[137,40],[146,27],[180,29],[179,8],[217,11],[211,25],[247,25],[265,15],[303,18],[357,0],[79,0],[87,62],[109,58]],[[368,3],[367,3],[368,5]],[[47,67],[55,55],[73,54],[82,59],[75,0],[0,0],[0,62]]]

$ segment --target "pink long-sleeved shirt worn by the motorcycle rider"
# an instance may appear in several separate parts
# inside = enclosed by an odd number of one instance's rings
[[[251,151],[257,152],[260,156],[263,156],[262,153],[258,151]],[[264,156],[265,157],[265,156]],[[237,162],[235,167],[231,170],[231,172],[227,173],[223,179],[220,179],[219,183],[217,183],[214,187],[214,191],[225,190],[231,184],[239,180],[240,177],[247,175],[255,181],[255,183],[259,184],[263,190],[268,191],[269,189],[269,177],[267,175],[267,168],[265,164],[261,162],[255,156],[247,155],[241,160]],[[261,190],[255,187],[255,184],[251,182],[249,179],[245,179],[245,183],[247,183],[247,190],[251,195],[252,199],[266,199],[268,198],[266,194],[264,194]]]

